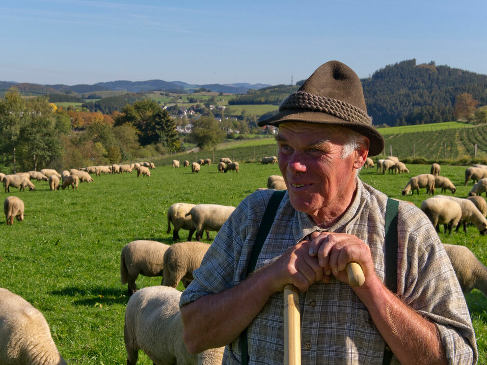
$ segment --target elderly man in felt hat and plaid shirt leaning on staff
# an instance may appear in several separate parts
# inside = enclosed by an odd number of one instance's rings
[[[213,241],[181,296],[188,350],[227,345],[226,364],[282,364],[282,289],[293,284],[303,363],[475,363],[468,308],[431,223],[410,204],[391,213],[391,200],[357,176],[384,140],[354,71],[323,64],[264,124],[279,126],[287,192],[266,238],[256,239],[273,190],[244,199]],[[363,269],[360,287],[348,285],[351,261]]]

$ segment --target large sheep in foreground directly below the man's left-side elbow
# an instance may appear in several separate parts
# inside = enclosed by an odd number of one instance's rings
[[[127,365],[136,365],[139,350],[154,364],[221,365],[224,348],[190,354],[184,345],[179,312],[181,292],[165,286],[142,288],[125,309],[123,338]]]

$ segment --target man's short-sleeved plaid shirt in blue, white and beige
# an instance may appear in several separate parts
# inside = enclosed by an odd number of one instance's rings
[[[384,282],[384,215],[387,196],[359,179],[356,197],[328,229],[355,235],[370,246],[377,276]],[[211,244],[180,305],[222,292],[245,277],[252,246],[267,202],[274,190],[244,199]],[[319,230],[306,213],[284,196],[256,264],[275,261],[290,246]],[[399,204],[398,295],[435,323],[452,364],[477,361],[475,333],[455,272],[428,218],[415,206]],[[346,284],[331,278],[300,293],[303,364],[382,364],[384,339],[367,308]],[[238,315],[238,314],[236,314]],[[250,364],[284,363],[283,295],[274,293],[248,327]],[[224,364],[240,363],[240,341],[225,349]],[[393,356],[392,363],[399,363]]]

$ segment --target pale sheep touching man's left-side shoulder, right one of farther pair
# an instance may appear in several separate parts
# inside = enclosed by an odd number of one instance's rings
[[[193,236],[195,230],[197,241],[201,241],[203,230],[220,231],[223,223],[225,223],[234,210],[235,207],[218,204],[198,204],[191,208],[186,213],[186,216],[191,215],[194,228],[190,230],[188,241],[191,241],[191,236]]]

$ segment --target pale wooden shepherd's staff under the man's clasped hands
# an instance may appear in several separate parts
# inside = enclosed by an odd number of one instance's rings
[[[364,272],[358,263],[348,263],[346,273],[350,286],[364,284]],[[292,284],[284,286],[284,365],[301,365],[300,298]]]

